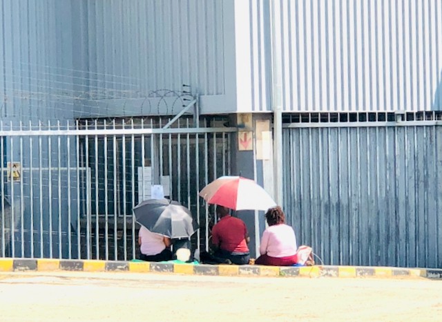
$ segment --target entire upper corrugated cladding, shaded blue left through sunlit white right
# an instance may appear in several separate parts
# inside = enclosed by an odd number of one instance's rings
[[[81,100],[140,98],[182,84],[234,105],[238,93],[227,88],[241,66],[233,33],[246,27],[251,106],[241,111],[271,111],[279,97],[285,111],[442,109],[439,0],[257,0],[234,19],[232,3],[3,0],[1,113],[103,115]],[[234,111],[211,104],[211,113]]]

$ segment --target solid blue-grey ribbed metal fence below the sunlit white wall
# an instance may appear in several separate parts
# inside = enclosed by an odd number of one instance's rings
[[[441,113],[286,117],[285,210],[327,264],[441,267]]]

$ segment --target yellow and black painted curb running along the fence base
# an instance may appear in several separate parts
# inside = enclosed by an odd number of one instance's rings
[[[287,277],[425,277],[442,279],[442,269],[315,265],[273,267],[259,265],[191,265],[132,261],[68,260],[48,258],[0,258],[0,272],[137,272],[175,273],[210,276]]]

